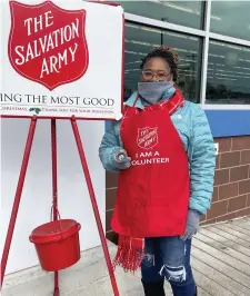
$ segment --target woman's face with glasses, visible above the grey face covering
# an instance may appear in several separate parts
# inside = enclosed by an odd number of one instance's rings
[[[173,76],[168,62],[163,58],[149,59],[142,69],[142,82],[172,81]]]

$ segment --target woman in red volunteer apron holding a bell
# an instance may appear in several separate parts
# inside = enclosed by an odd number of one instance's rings
[[[194,296],[191,239],[211,204],[213,138],[204,112],[174,86],[178,55],[171,48],[154,49],[140,68],[138,91],[99,149],[103,167],[120,172],[114,264],[141,267],[147,296],[163,296],[164,279],[173,295]]]

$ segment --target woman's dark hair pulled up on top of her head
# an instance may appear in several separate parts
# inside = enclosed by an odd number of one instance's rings
[[[173,81],[176,82],[178,79],[178,62],[179,62],[179,57],[177,51],[174,51],[172,48],[170,47],[158,47],[156,48],[153,51],[149,52],[141,62],[140,69],[142,69],[144,67],[144,63],[150,60],[151,58],[163,58],[170,69],[171,69],[171,73],[173,76]]]

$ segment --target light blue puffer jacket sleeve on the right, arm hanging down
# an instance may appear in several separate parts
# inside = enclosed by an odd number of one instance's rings
[[[213,193],[216,151],[213,137],[204,111],[196,106],[192,119],[189,208],[204,215],[211,206]]]

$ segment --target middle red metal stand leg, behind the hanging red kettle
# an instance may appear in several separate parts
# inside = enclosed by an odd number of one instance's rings
[[[58,219],[58,167],[57,167],[57,124],[51,119],[51,158],[52,158],[52,190],[53,190],[53,220]],[[53,296],[59,296],[59,275],[54,272]]]

